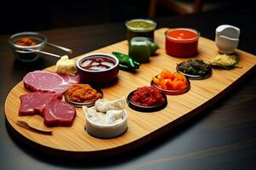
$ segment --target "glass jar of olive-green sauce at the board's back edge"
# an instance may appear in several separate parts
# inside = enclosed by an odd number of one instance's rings
[[[132,37],[149,37],[154,41],[154,30],[156,22],[154,20],[134,19],[125,22],[126,36],[128,42]]]

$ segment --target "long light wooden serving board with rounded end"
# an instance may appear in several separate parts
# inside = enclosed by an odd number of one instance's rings
[[[149,86],[151,78],[159,74],[162,69],[176,71],[177,63],[187,60],[174,58],[166,54],[165,31],[166,28],[155,31],[155,42],[160,46],[157,51],[158,55],[151,57],[150,62],[143,64],[137,73],[119,71],[118,81],[113,86],[102,88],[104,99],[113,100],[122,96],[126,97],[138,87]],[[108,47],[97,49],[90,54],[111,54],[113,51],[127,54],[127,42],[117,42]],[[207,62],[216,54],[218,54],[218,49],[215,42],[201,37],[199,54],[194,59],[203,59]],[[234,88],[237,82],[241,82],[242,78],[255,67],[256,57],[241,50],[236,50],[236,54],[241,58],[239,63],[241,68],[230,71],[213,69],[212,77],[205,80],[191,80],[191,88],[188,93],[167,96],[168,105],[164,110],[143,113],[133,111],[125,104],[128,113],[128,129],[126,133],[118,138],[96,139],[86,133],[84,131],[84,112],[81,109],[77,109],[77,116],[72,127],[46,127],[41,116],[18,116],[19,97],[22,94],[29,93],[24,88],[23,82],[18,83],[9,93],[5,101],[5,115],[9,125],[21,137],[25,137],[23,139],[49,150],[80,153],[84,156],[110,155],[131,150],[131,148],[143,144],[189,117],[195,116],[195,114],[212,105],[217,99],[226,94],[230,88]],[[51,66],[46,70],[54,71],[54,69],[55,66]],[[33,133],[17,126],[15,122],[18,120],[28,122],[32,127],[52,130],[53,135]]]

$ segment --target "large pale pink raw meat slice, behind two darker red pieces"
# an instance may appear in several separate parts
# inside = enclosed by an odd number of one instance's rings
[[[32,71],[23,78],[26,89],[32,92],[63,94],[71,85],[79,83],[80,77],[57,74],[50,71]]]

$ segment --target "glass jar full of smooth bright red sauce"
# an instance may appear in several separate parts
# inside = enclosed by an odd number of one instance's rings
[[[166,31],[166,54],[173,57],[190,57],[197,54],[200,33],[190,28]]]

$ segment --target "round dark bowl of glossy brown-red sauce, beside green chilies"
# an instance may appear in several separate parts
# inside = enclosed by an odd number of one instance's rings
[[[119,73],[119,59],[112,54],[87,54],[76,65],[81,81],[88,84],[113,82]]]

